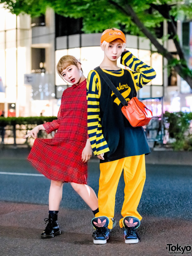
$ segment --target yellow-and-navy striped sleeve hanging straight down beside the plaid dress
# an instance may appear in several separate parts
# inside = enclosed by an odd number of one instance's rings
[[[108,144],[104,139],[99,98],[101,93],[100,78],[96,71],[92,70],[87,79],[87,101],[88,101],[88,135],[94,155],[100,155],[109,151]]]

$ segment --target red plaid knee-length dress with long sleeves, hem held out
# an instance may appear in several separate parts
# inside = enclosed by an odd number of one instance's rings
[[[58,119],[43,126],[57,132],[53,139],[36,138],[30,163],[50,180],[87,184],[87,163],[81,160],[88,138],[86,80],[63,92]]]

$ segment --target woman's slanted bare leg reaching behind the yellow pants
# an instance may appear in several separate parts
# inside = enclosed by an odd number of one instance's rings
[[[78,184],[71,182],[72,188],[81,196],[85,203],[91,208],[92,211],[98,208],[98,198],[94,190],[85,184]]]

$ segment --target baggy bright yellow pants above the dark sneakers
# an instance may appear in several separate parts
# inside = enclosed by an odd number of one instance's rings
[[[137,206],[146,179],[145,155],[129,156],[116,161],[101,163],[98,192],[99,212],[95,216],[107,216],[109,218],[109,229],[113,228],[111,218],[114,217],[115,195],[123,169],[125,188],[121,214],[123,218],[134,216],[139,220],[142,219],[137,212]],[[119,221],[121,228],[123,218]]]

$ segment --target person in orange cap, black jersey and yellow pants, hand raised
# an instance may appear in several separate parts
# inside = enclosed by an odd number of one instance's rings
[[[156,77],[155,70],[125,50],[126,37],[117,28],[101,36],[104,58],[100,69],[91,70],[87,79],[88,135],[94,155],[100,159],[98,203],[92,224],[96,229],[94,243],[105,244],[113,228],[115,195],[124,169],[124,203],[119,225],[125,243],[138,243],[136,228],[141,215],[137,211],[146,178],[145,155],[150,153],[142,127],[132,127],[121,112],[122,103],[109,88],[103,73],[121,95],[129,101],[137,91]],[[121,64],[129,69],[119,68]]]

